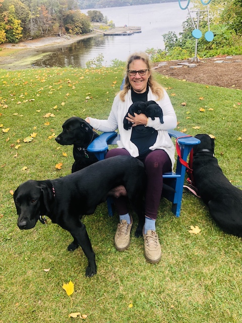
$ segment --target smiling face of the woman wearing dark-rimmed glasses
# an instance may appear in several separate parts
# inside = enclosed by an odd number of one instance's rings
[[[143,60],[135,60],[129,65],[129,71],[147,70],[146,63]],[[146,74],[141,76],[136,73],[135,76],[129,75],[129,81],[136,93],[144,93],[147,88],[148,79],[150,77],[150,71],[146,71]]]

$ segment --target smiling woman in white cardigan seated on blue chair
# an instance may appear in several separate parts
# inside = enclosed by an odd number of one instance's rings
[[[132,103],[154,100],[162,109],[163,121],[152,120],[145,114],[128,115],[132,128],[124,129],[124,118]],[[156,233],[155,221],[159,208],[163,177],[162,174],[171,171],[174,165],[174,145],[167,130],[176,127],[176,115],[165,89],[154,79],[148,56],[134,53],[128,59],[127,76],[123,90],[115,96],[111,112],[107,120],[87,118],[91,126],[103,132],[118,128],[120,141],[118,148],[107,152],[106,157],[116,155],[131,155],[139,158],[145,165],[147,187],[145,196],[145,225],[143,237],[145,242],[145,257],[149,262],[156,263],[161,258],[161,247]],[[130,245],[132,218],[128,212],[127,200],[124,196],[115,200],[120,223],[117,226],[114,243],[117,250],[126,250]]]

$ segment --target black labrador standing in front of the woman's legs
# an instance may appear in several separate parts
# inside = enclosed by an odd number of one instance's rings
[[[125,191],[139,217],[135,235],[141,236],[144,226],[142,200],[145,179],[142,161],[131,156],[115,156],[62,178],[29,180],[14,192],[19,216],[18,227],[31,229],[38,220],[44,222],[43,216],[48,216],[53,223],[57,223],[73,236],[69,251],[77,249],[79,245],[82,247],[88,258],[86,276],[93,276],[97,272],[95,253],[86,227],[81,222],[82,216],[93,214],[96,206],[104,202],[107,196],[118,197],[120,195],[117,194]],[[116,190],[116,187],[122,189]]]

